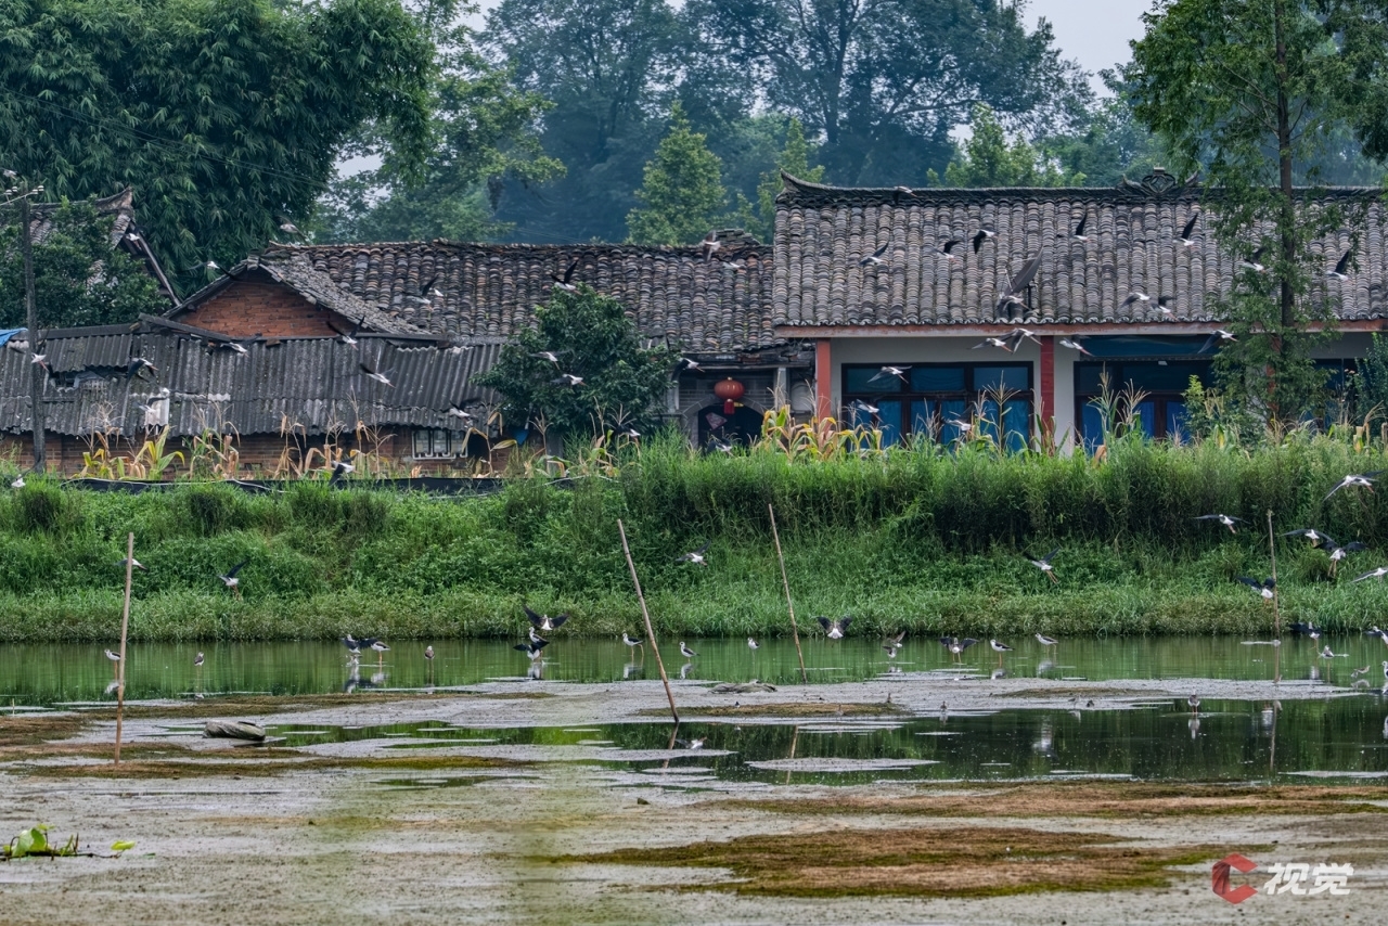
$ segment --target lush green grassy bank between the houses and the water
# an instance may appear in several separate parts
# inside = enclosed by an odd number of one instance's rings
[[[967,450],[829,462],[657,441],[572,489],[518,479],[459,500],[312,482],[132,496],[31,479],[0,496],[0,640],[111,640],[126,530],[149,566],[132,615],[146,640],[511,636],[522,601],[568,611],[575,633],[634,632],[618,516],[659,629],[784,633],[768,503],[802,625],[852,614],[869,633],[1266,633],[1269,609],[1234,578],[1267,575],[1271,508],[1278,532],[1313,525],[1370,546],[1331,580],[1321,551],[1278,539],[1284,619],[1357,629],[1388,623],[1388,589],[1349,583],[1388,564],[1388,493],[1323,497],[1344,473],[1384,466],[1328,439],[1252,453],[1134,441],[1103,461]],[[1251,529],[1192,521],[1214,511]],[[709,568],[673,564],[705,541]],[[1052,547],[1059,584],[1022,557]],[[217,575],[242,559],[235,600]]]

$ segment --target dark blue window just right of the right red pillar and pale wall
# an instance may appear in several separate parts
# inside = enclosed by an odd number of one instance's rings
[[[1103,411],[1095,403],[1103,393],[1108,373],[1109,393],[1119,401],[1117,414],[1127,415],[1126,396],[1140,394],[1133,410],[1138,426],[1148,437],[1171,437],[1185,432],[1185,390],[1191,376],[1210,382],[1209,360],[1115,360],[1074,365],[1076,421],[1085,450],[1103,440]],[[1109,422],[1112,428],[1116,422]]]

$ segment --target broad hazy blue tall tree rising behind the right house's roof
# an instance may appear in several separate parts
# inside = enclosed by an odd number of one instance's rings
[[[740,64],[768,101],[823,137],[845,183],[924,178],[976,103],[1030,131],[1088,93],[1044,19],[992,0],[691,0],[702,54]]]

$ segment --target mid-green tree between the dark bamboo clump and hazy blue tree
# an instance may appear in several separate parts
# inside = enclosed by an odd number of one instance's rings
[[[457,24],[457,0],[434,0],[421,11],[439,61],[430,96],[432,150],[422,174],[390,158],[387,139],[368,135],[358,151],[386,160],[379,169],[333,183],[315,224],[316,239],[498,237],[509,230],[494,218],[507,179],[533,185],[564,174],[564,165],[543,153],[534,131],[551,104],[512,86],[507,71],[476,53],[472,32]]]

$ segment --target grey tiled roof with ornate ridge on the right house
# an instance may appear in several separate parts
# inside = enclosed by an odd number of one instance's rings
[[[843,189],[783,175],[776,205],[777,326],[979,325],[998,319],[1008,282],[1037,251],[1030,323],[1214,322],[1217,297],[1230,292],[1234,262],[1196,225],[1198,244],[1176,236],[1201,208],[1203,189],[1165,174],[1112,189]],[[1337,189],[1328,197],[1373,200],[1359,271],[1323,280],[1341,319],[1388,317],[1388,217],[1380,190]],[[1081,243],[1070,232],[1088,215]],[[967,239],[997,236],[974,254]],[[938,253],[949,239],[959,261]],[[883,244],[880,265],[859,260]],[[1317,243],[1326,268],[1348,250],[1348,233]],[[1134,292],[1151,303],[1122,303]],[[1173,296],[1173,318],[1156,308]],[[1020,318],[1020,314],[1017,315]]]

